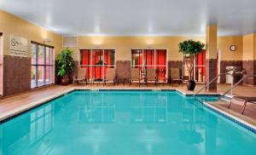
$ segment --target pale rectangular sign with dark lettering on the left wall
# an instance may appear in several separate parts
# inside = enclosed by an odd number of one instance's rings
[[[13,34],[9,35],[9,54],[12,56],[27,57],[27,39]]]

